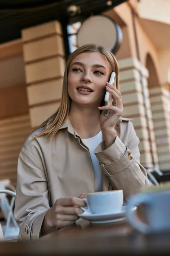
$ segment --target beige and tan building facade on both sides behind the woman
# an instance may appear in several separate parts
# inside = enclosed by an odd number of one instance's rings
[[[123,117],[133,118],[141,163],[170,166],[170,0],[129,0],[104,15],[122,29],[116,52]],[[61,99],[65,52],[57,21],[29,27],[0,45],[0,179],[16,185],[26,136]]]

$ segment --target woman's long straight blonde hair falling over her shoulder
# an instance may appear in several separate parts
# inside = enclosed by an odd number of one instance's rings
[[[112,72],[116,73],[116,87],[119,90],[119,78],[118,78],[119,65],[113,53],[108,49],[105,49],[104,47],[96,46],[94,44],[86,44],[86,45],[83,45],[82,47],[79,47],[77,50],[71,53],[71,55],[68,57],[68,60],[66,61],[63,86],[62,86],[61,104],[58,110],[52,116],[50,116],[47,120],[45,120],[45,122],[43,122],[39,127],[36,128],[37,130],[42,127],[45,127],[48,124],[45,130],[42,131],[40,134],[36,135],[34,139],[40,136],[45,136],[45,137],[50,137],[50,140],[52,140],[55,134],[57,133],[57,131],[65,123],[68,117],[68,113],[70,111],[70,106],[71,106],[71,98],[68,95],[68,81],[67,81],[68,70],[74,58],[76,58],[77,55],[79,55],[82,52],[99,52],[105,57],[105,59],[110,64],[110,74]]]

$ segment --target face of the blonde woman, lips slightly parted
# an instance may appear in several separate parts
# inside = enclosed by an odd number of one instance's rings
[[[83,52],[71,62],[68,94],[79,105],[98,105],[105,96],[110,66],[99,52]]]

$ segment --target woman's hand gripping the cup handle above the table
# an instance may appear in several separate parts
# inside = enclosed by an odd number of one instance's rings
[[[79,197],[57,199],[54,206],[45,214],[41,235],[75,223],[79,218],[78,214],[83,213],[80,207],[87,206],[82,198],[85,198],[85,194],[79,195]]]

